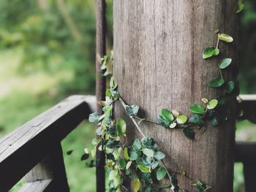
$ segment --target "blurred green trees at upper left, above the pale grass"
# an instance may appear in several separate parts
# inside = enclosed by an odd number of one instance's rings
[[[0,49],[22,51],[19,74],[69,71],[72,81],[59,82],[60,93],[92,92],[94,10],[90,0],[0,1]]]

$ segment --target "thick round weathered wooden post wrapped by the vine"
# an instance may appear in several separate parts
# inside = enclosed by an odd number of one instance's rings
[[[114,1],[114,77],[118,91],[128,104],[138,104],[142,117],[156,120],[162,108],[191,115],[189,105],[219,95],[208,82],[218,77],[221,58],[233,58],[236,66],[236,15],[230,0],[116,0]],[[232,44],[220,43],[219,57],[204,60],[204,48],[217,43],[214,29],[230,34]],[[227,70],[225,78],[234,79]],[[236,80],[236,79],[235,79]],[[235,99],[230,99],[235,112]],[[116,118],[126,116],[116,107]],[[129,122],[129,120],[127,120]],[[167,154],[165,164],[179,172],[185,169],[191,178],[211,185],[211,191],[233,191],[234,118],[225,126],[206,125],[204,134],[194,141],[181,130],[170,130],[150,123],[142,128],[154,137],[159,150]],[[129,142],[141,138],[128,123]],[[178,176],[182,189],[195,191],[186,177]]]

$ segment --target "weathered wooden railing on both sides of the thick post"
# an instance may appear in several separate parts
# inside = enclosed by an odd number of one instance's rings
[[[256,96],[241,96],[243,118],[255,118]],[[60,142],[95,110],[95,97],[70,96],[0,139],[0,191],[24,175],[22,192],[69,191]],[[90,104],[90,107],[89,107]],[[92,109],[93,108],[93,109]],[[244,164],[246,192],[256,189],[256,142],[236,142],[235,161]]]

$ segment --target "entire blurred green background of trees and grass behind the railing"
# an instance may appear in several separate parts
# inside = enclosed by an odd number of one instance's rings
[[[108,50],[112,1],[108,0]],[[241,93],[256,93],[256,1],[246,0],[239,20]],[[95,2],[91,0],[0,1],[0,137],[71,94],[94,94]],[[62,142],[72,192],[94,192],[94,168],[80,161],[94,126],[84,122]],[[237,140],[256,141],[256,126],[237,123]],[[67,151],[73,150],[71,155]],[[242,165],[234,189],[244,191]],[[18,191],[23,180],[11,191]]]

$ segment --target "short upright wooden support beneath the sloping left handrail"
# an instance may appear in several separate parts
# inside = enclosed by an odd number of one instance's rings
[[[26,182],[53,180],[52,190],[69,192],[61,144],[56,143],[42,161],[26,174]]]

